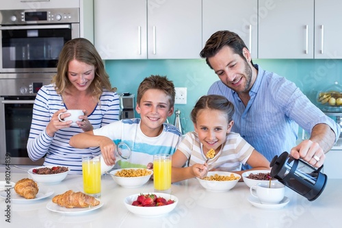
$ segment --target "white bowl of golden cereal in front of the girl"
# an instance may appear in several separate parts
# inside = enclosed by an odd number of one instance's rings
[[[226,192],[236,186],[241,176],[236,173],[224,171],[208,172],[207,177],[200,179],[196,177],[200,185],[211,192]]]

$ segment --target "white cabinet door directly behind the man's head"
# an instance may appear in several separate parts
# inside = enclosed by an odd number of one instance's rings
[[[257,58],[258,1],[202,0],[202,47],[219,30],[237,33]]]

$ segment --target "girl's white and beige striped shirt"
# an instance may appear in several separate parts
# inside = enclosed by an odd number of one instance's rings
[[[203,164],[207,160],[205,153],[203,153],[203,145],[198,138],[196,131],[188,132],[185,138],[179,144],[179,151],[181,151],[189,161],[188,166],[196,163]],[[220,152],[215,155],[213,160],[209,160],[209,170],[212,168],[220,168],[222,171],[239,171],[241,165],[246,164],[248,158],[252,154],[254,147],[252,147],[239,134],[230,132],[226,136],[226,142],[222,144]]]

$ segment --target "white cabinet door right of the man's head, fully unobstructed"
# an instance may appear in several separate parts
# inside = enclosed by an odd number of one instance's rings
[[[259,58],[313,58],[314,0],[259,0],[258,17]]]

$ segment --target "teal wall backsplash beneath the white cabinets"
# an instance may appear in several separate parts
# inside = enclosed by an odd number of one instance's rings
[[[319,90],[332,86],[334,81],[342,85],[342,60],[253,60],[266,71],[293,81],[311,101]],[[196,100],[207,94],[209,86],[218,76],[207,66],[205,60],[107,60],[105,67],[112,86],[118,92],[136,94],[142,79],[150,75],[164,75],[176,87],[187,88],[187,104],[175,105],[181,111],[184,131],[194,129],[189,114]],[[174,115],[168,118],[174,123]]]

